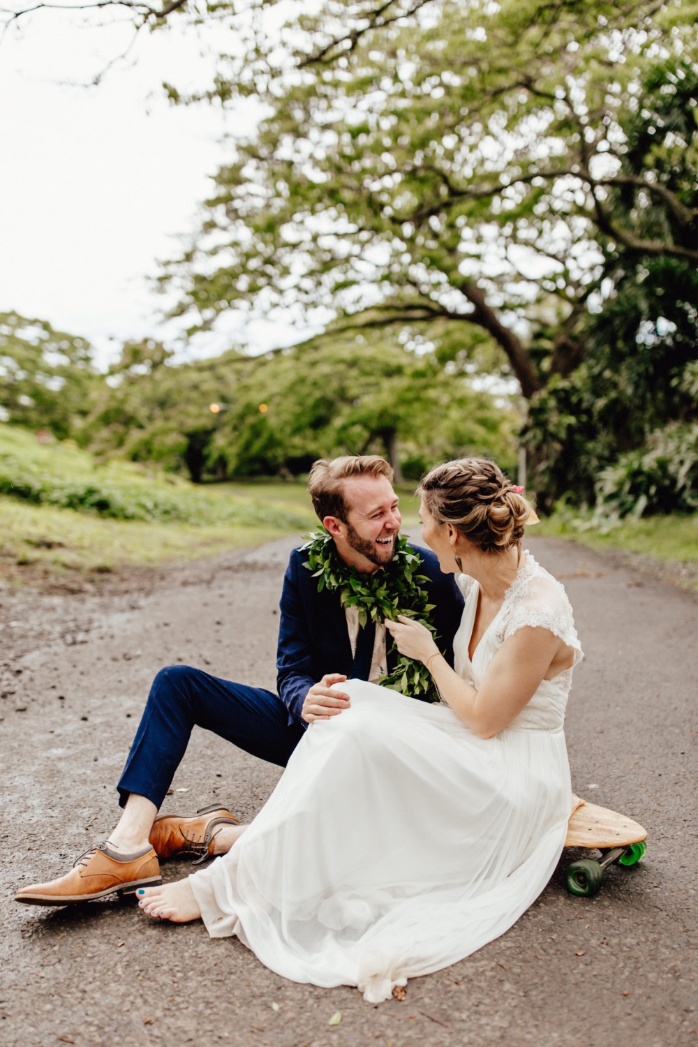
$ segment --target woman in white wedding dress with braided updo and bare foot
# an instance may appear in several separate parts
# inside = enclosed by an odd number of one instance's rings
[[[229,853],[139,890],[141,909],[237,935],[272,971],[370,1002],[503,934],[545,887],[571,806],[563,733],[582,652],[562,585],[522,551],[531,508],[492,462],[436,466],[424,541],[456,574],[455,669],[431,632],[386,622],[443,704],[336,685]],[[340,681],[342,677],[340,677]]]

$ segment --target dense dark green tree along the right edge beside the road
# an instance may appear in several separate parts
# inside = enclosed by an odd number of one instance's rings
[[[698,205],[697,99],[698,68],[665,59],[647,71],[628,117],[628,168],[637,176],[651,174],[683,208],[675,220],[676,208],[667,210],[648,197],[634,211],[634,195],[616,186],[613,215],[625,225],[634,218],[644,241],[672,236],[686,247],[696,243],[695,217],[684,221],[683,211],[693,208],[695,216]],[[698,269],[691,261],[611,242],[604,281],[602,307],[585,324],[585,362],[551,381],[531,404],[525,439],[538,449],[541,486],[575,504],[592,504],[598,496],[612,502],[607,470],[618,455],[629,455],[632,482],[623,466],[613,473],[625,508],[667,511],[672,497],[675,507],[688,508],[681,482],[656,483],[653,448],[671,446],[680,460],[680,431],[689,445],[695,442],[691,423],[698,420],[698,398],[690,376],[698,366]],[[676,430],[676,423],[689,428]],[[667,436],[658,436],[667,427]]]

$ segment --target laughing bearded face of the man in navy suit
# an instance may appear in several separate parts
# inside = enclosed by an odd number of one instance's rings
[[[359,571],[389,563],[402,516],[398,495],[387,476],[353,476],[344,481],[348,508],[343,534],[335,536],[340,556]]]

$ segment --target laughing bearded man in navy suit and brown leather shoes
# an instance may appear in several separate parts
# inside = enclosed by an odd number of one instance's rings
[[[401,515],[392,469],[377,455],[316,462],[309,476],[315,511],[332,536],[338,556],[362,574],[374,574],[395,555]],[[452,575],[436,557],[419,549],[432,621],[440,646],[452,662],[463,599]],[[360,627],[356,608],[344,609],[338,591],[318,592],[303,566],[301,549],[291,554],[284,578],[276,655],[278,694],[219,680],[190,666],[161,669],[117,788],[123,807],[109,839],[91,848],[66,875],[22,888],[17,901],[63,906],[133,893],[159,884],[158,857],[196,854],[203,861],[229,850],[245,826],[225,807],[196,816],[157,816],[195,726],[213,731],[263,760],[285,766],[317,719],[336,716],[350,705],[333,684],[347,676],[378,683],[391,668],[385,627]],[[409,700],[409,699],[406,699]]]

